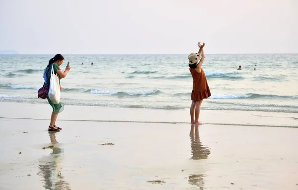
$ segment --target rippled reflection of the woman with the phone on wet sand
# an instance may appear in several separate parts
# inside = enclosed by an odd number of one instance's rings
[[[39,173],[38,175],[43,177],[43,187],[46,190],[71,190],[69,183],[64,181],[64,177],[61,174],[61,161],[63,159],[63,149],[58,147],[56,140],[56,132],[49,131],[49,136],[53,148],[53,151],[49,156],[44,156],[39,160]]]

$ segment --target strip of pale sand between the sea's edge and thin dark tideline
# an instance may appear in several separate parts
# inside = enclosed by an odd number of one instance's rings
[[[0,102],[0,118],[49,120],[52,108],[46,103]],[[19,110],[19,111],[15,111]],[[136,122],[136,123],[190,123],[189,110],[163,110],[66,105],[57,121]],[[204,124],[298,127],[297,113],[261,111],[201,110]]]

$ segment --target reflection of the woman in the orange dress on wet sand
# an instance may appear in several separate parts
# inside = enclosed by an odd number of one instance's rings
[[[192,124],[190,127],[189,133],[190,141],[191,141],[191,153],[193,160],[207,159],[208,155],[210,155],[210,148],[204,146],[200,140],[199,135],[199,125]],[[188,177],[188,183],[197,186],[200,190],[204,189],[204,175],[203,174],[193,174]]]

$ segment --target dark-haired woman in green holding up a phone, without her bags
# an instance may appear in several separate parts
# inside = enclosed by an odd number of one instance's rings
[[[54,69],[54,74],[56,75],[58,73],[59,75],[59,84],[60,79],[65,78],[68,74],[68,72],[71,70],[71,67],[66,67],[65,71],[61,71],[60,66],[63,64],[64,57],[61,54],[55,55],[52,59],[50,59],[48,66],[44,70],[44,80],[46,85],[50,85],[51,80],[51,70],[52,67]],[[62,87],[60,85],[60,90],[62,90]],[[58,113],[62,112],[64,109],[64,103],[60,102],[58,104],[54,104],[49,97],[47,97],[49,104],[53,108],[52,116],[51,116],[51,122],[49,125],[49,131],[60,131],[62,128],[58,127],[56,125],[56,120]]]

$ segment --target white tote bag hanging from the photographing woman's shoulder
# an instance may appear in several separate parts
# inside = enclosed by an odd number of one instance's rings
[[[60,103],[60,84],[58,73],[54,74],[54,64],[51,71],[49,98],[54,104]]]

